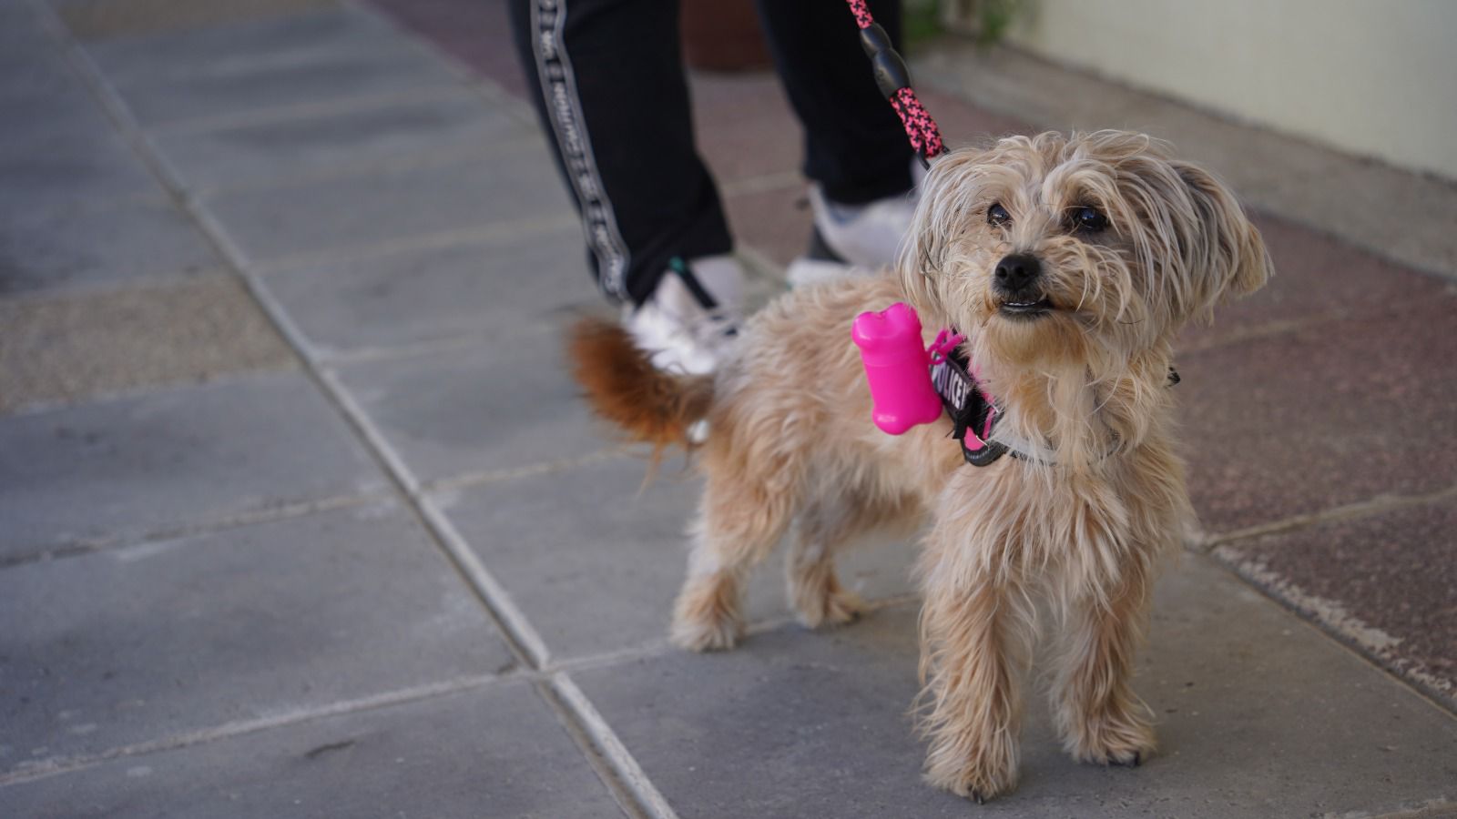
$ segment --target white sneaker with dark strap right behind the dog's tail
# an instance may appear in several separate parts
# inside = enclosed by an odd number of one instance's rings
[[[739,332],[743,267],[731,255],[676,264],[657,290],[622,324],[653,366],[670,373],[708,375]]]

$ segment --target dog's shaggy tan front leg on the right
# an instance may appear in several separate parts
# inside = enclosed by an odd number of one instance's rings
[[[1131,685],[1148,618],[1148,570],[1128,561],[1106,597],[1084,595],[1064,605],[1050,691],[1064,748],[1080,762],[1138,765],[1154,751],[1148,707]]]

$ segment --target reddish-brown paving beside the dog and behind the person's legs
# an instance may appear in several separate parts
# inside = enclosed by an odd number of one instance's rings
[[[525,93],[498,0],[376,4]],[[692,92],[701,150],[728,187],[739,242],[788,262],[804,246],[809,213],[800,184],[763,179],[798,165],[798,125],[777,80],[701,74]],[[951,95],[919,93],[951,146],[1030,131]],[[756,178],[769,184],[756,187]],[[1257,223],[1276,278],[1222,310],[1215,326],[1192,329],[1180,358],[1190,488],[1203,525],[1230,532],[1457,484],[1457,286],[1276,217]],[[1426,506],[1231,548],[1399,637],[1399,657],[1454,679],[1454,526],[1453,504]]]

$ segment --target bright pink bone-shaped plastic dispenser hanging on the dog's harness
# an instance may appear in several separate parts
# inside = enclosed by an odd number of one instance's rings
[[[879,313],[860,313],[851,338],[865,364],[877,427],[899,436],[941,417],[941,398],[931,386],[931,354],[911,305],[896,302]]]

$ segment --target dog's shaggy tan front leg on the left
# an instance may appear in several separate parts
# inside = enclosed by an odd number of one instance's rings
[[[1018,571],[989,568],[1001,561],[967,565],[969,551],[986,544],[935,544],[947,529],[932,532],[932,563],[924,571],[921,673],[930,713],[922,732],[931,739],[925,775],[932,785],[982,802],[1017,785],[1020,676],[1034,612]]]

